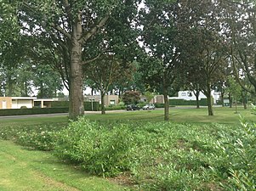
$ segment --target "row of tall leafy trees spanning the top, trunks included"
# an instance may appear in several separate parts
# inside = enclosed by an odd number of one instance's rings
[[[83,114],[84,83],[102,96],[162,93],[165,120],[180,87],[205,93],[208,115],[211,90],[224,91],[228,76],[256,92],[253,0],[1,0],[0,9],[1,64],[51,65],[70,92],[71,118]]]

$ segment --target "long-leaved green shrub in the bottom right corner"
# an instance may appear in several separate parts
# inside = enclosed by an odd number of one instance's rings
[[[255,108],[253,108],[255,110]],[[241,120],[233,132],[221,132],[216,143],[221,161],[213,166],[216,177],[227,179],[225,190],[256,189],[256,124]],[[225,177],[223,177],[225,174]]]

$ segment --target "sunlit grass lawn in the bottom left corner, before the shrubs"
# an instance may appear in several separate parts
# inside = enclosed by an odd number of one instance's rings
[[[122,190],[115,183],[88,176],[49,152],[24,149],[0,140],[0,190]]]

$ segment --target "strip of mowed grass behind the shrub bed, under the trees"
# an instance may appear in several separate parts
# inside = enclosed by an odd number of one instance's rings
[[[208,115],[208,108],[196,109],[193,107],[170,108],[170,121],[179,123],[221,123],[237,124],[240,121],[240,115],[247,121],[256,121],[256,116],[252,115],[250,109],[244,110],[238,108],[235,113],[234,108],[213,108],[213,116]],[[94,121],[163,121],[163,110],[139,110],[107,112],[106,115],[90,114],[88,119]]]

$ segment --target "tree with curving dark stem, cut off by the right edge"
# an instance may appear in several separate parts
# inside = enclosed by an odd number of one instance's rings
[[[225,1],[223,7],[225,36],[228,39],[230,59],[236,81],[248,93],[256,94],[256,3],[248,1]],[[248,88],[243,78],[254,87]]]

